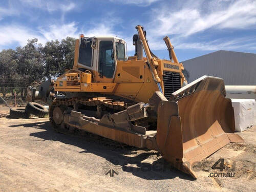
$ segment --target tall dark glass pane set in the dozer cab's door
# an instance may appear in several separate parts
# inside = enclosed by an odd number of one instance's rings
[[[112,78],[115,71],[114,49],[111,40],[99,42],[99,73],[100,76]]]

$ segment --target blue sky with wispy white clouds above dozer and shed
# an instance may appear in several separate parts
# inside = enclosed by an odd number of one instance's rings
[[[0,51],[84,34],[123,38],[132,56],[137,25],[162,59],[166,35],[179,61],[218,50],[256,53],[256,0],[2,0]]]

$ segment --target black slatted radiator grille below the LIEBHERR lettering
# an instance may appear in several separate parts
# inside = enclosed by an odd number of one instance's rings
[[[181,88],[181,76],[180,73],[174,73],[169,71],[163,71],[163,87],[164,96],[166,99],[170,98],[173,92]]]

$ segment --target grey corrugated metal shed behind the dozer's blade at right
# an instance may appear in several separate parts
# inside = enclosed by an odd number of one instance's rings
[[[182,63],[188,82],[210,75],[223,78],[226,85],[256,85],[256,54],[221,50]]]

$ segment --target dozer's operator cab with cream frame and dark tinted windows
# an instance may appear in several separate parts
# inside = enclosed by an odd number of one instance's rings
[[[78,51],[79,49],[79,51]],[[112,82],[117,60],[126,60],[126,42],[118,37],[84,37],[80,35],[77,67],[90,71],[94,81]]]

